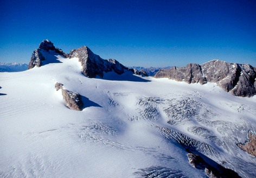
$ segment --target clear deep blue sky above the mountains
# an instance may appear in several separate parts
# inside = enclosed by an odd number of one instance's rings
[[[0,62],[49,39],[144,67],[223,60],[256,67],[256,1],[0,1]]]

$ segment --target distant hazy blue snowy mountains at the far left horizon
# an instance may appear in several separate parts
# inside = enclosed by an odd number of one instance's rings
[[[18,72],[28,70],[28,64],[25,63],[0,63],[0,72]]]

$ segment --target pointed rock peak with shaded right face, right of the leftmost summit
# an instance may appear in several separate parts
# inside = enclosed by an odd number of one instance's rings
[[[88,47],[80,47],[69,52],[69,58],[78,57],[82,65],[82,74],[89,78],[96,76],[103,77],[104,72],[114,71],[117,74],[123,74],[127,69],[116,60],[103,60],[95,55]]]

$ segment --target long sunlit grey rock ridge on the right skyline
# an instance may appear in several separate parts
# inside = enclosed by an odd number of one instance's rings
[[[250,97],[256,94],[256,70],[249,64],[213,60],[202,65],[188,64],[183,68],[161,69],[154,77],[167,77],[187,83],[214,82],[235,96]]]

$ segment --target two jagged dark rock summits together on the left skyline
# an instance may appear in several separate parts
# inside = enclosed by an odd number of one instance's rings
[[[39,49],[36,49],[31,57],[28,69],[42,66],[42,61],[46,58],[42,55],[44,51],[53,51],[59,55],[62,55],[66,58],[78,57],[79,62],[82,65],[82,74],[89,78],[95,78],[96,76],[103,77],[104,72],[114,71],[117,74],[123,74],[125,70],[129,70],[124,65],[120,64],[118,61],[110,59],[104,60],[98,55],[95,55],[88,47],[80,47],[78,49],[73,49],[66,54],[59,48],[55,48],[53,43],[48,39],[43,40],[39,45]]]

